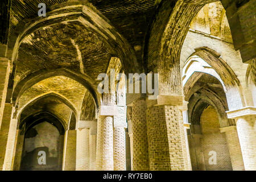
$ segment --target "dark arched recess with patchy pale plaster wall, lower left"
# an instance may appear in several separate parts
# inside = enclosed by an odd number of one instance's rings
[[[20,170],[61,170],[64,128],[60,130],[55,123],[42,118],[28,125],[25,130]]]

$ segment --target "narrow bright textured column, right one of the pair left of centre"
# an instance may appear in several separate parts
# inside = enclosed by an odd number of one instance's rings
[[[114,127],[113,130],[113,159],[114,171],[125,171],[126,169],[126,150],[125,150],[125,128]]]

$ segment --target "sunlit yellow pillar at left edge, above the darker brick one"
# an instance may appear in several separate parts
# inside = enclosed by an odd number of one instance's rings
[[[6,93],[10,75],[10,61],[5,57],[0,57],[0,128],[5,108]]]

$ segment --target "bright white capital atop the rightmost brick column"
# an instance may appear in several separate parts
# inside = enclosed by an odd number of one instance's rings
[[[242,109],[226,111],[229,119],[235,119],[240,117],[245,117],[247,115],[256,115],[256,107],[248,106],[243,107]]]

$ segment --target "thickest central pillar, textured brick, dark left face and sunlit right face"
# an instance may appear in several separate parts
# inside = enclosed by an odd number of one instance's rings
[[[188,170],[183,96],[158,96],[147,109],[150,170]],[[153,106],[152,106],[153,105]]]

